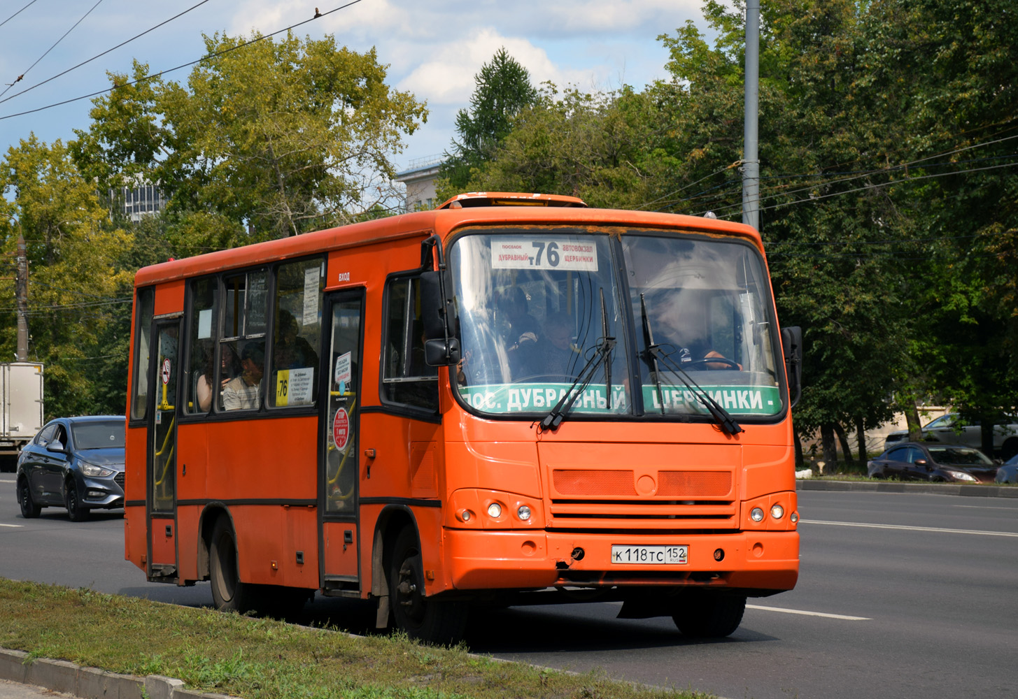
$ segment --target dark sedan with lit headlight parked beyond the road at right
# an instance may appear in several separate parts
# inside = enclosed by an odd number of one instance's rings
[[[991,483],[997,464],[966,445],[906,442],[869,461],[866,471],[870,478]]]

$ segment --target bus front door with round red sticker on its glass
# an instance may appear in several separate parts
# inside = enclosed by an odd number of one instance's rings
[[[360,356],[363,292],[342,291],[326,302],[330,357],[323,376],[326,397],[320,425],[319,561],[323,589],[359,596],[357,536]]]

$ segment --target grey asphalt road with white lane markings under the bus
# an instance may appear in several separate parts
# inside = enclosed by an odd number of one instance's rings
[[[514,607],[470,625],[482,653],[730,699],[1018,696],[1018,500],[800,491],[795,590],[750,599],[721,641],[669,619],[616,620],[616,604]],[[0,474],[0,576],[187,605],[207,583],[147,583],[123,561],[119,512],[74,525],[21,519]],[[320,599],[303,621],[371,631],[374,605]]]

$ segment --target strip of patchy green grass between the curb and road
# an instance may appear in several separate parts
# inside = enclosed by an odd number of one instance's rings
[[[0,647],[245,699],[708,699],[269,619],[0,578]]]

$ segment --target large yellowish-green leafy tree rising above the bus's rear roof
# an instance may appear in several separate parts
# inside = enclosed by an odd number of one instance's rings
[[[171,211],[231,225],[234,243],[348,223],[394,194],[390,155],[427,111],[386,85],[374,50],[289,34],[216,34],[206,48],[186,85],[147,78],[137,62],[130,78],[111,75],[76,132],[87,174],[158,182]]]

